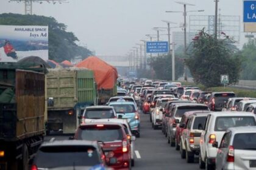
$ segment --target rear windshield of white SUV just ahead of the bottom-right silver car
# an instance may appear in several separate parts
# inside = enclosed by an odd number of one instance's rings
[[[226,131],[229,127],[255,125],[254,117],[218,117],[215,121],[215,131]]]

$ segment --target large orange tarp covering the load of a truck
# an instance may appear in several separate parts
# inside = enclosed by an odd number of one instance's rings
[[[98,89],[113,89],[118,73],[115,67],[105,63],[96,56],[90,56],[81,61],[76,67],[93,70]]]

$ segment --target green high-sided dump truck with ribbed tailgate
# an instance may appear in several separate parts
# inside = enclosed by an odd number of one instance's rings
[[[85,107],[97,101],[93,71],[74,67],[48,71],[46,132],[74,134]]]

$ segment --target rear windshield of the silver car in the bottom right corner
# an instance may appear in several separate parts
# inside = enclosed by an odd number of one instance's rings
[[[233,147],[235,149],[256,150],[256,133],[235,134]]]

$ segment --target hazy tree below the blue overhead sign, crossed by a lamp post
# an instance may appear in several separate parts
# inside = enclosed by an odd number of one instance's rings
[[[151,61],[151,67],[155,71],[155,78],[160,80],[172,80],[172,57],[171,55],[159,56]],[[183,61],[179,56],[175,57],[175,77],[183,74]]]

